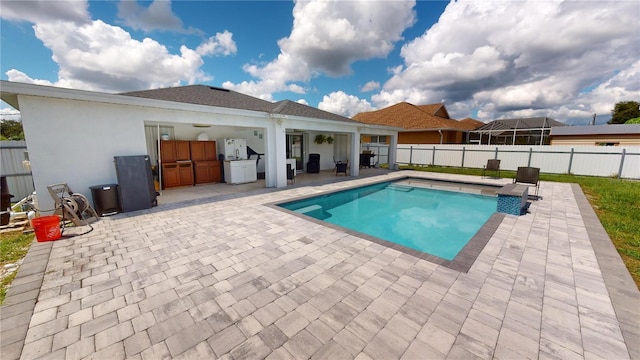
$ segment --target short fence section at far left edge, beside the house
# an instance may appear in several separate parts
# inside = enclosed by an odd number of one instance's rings
[[[0,174],[7,179],[11,202],[18,202],[34,191],[31,171],[24,167],[27,160],[26,141],[0,141]]]

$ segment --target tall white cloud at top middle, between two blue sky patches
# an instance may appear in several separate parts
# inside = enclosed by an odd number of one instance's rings
[[[414,5],[415,1],[297,1],[293,29],[278,42],[278,57],[244,66],[256,80],[224,86],[267,100],[274,92],[304,93],[301,85],[292,83],[309,82],[321,73],[346,75],[355,61],[387,56],[414,24]]]

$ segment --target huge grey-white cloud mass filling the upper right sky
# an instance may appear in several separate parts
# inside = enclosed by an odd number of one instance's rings
[[[640,82],[632,70],[639,10],[637,1],[451,2],[438,23],[403,46],[402,68],[372,100],[385,107],[445,99],[453,117],[475,110],[485,120],[611,108],[637,94],[630,84]],[[620,74],[625,85],[613,86]],[[585,103],[596,92],[607,105]]]

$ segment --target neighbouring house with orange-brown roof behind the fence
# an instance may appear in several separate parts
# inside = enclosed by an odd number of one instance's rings
[[[473,119],[451,119],[444,104],[413,105],[407,102],[359,113],[353,118],[366,124],[402,128],[398,132],[398,144],[460,144],[467,131],[484,124]],[[362,141],[383,142],[375,137]]]

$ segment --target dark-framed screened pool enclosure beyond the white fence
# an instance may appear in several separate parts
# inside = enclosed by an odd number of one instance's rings
[[[487,145],[549,144],[552,128],[565,124],[548,117],[499,119],[469,131],[468,142]]]

